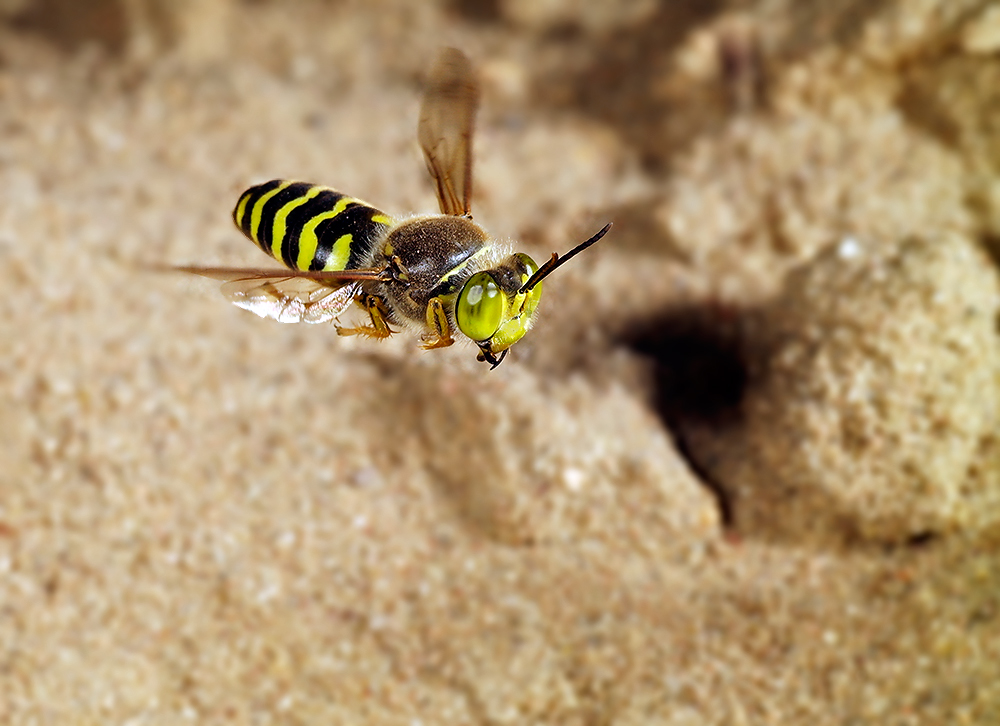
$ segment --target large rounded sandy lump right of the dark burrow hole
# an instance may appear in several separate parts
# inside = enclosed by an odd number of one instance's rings
[[[795,271],[748,333],[741,422],[699,453],[745,533],[900,541],[982,528],[969,488],[998,423],[1000,286],[959,235],[849,238]]]

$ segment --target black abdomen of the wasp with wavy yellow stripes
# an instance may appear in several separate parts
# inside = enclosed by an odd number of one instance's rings
[[[243,192],[233,221],[262,250],[299,270],[362,267],[392,224],[375,207],[334,189],[282,179]]]

